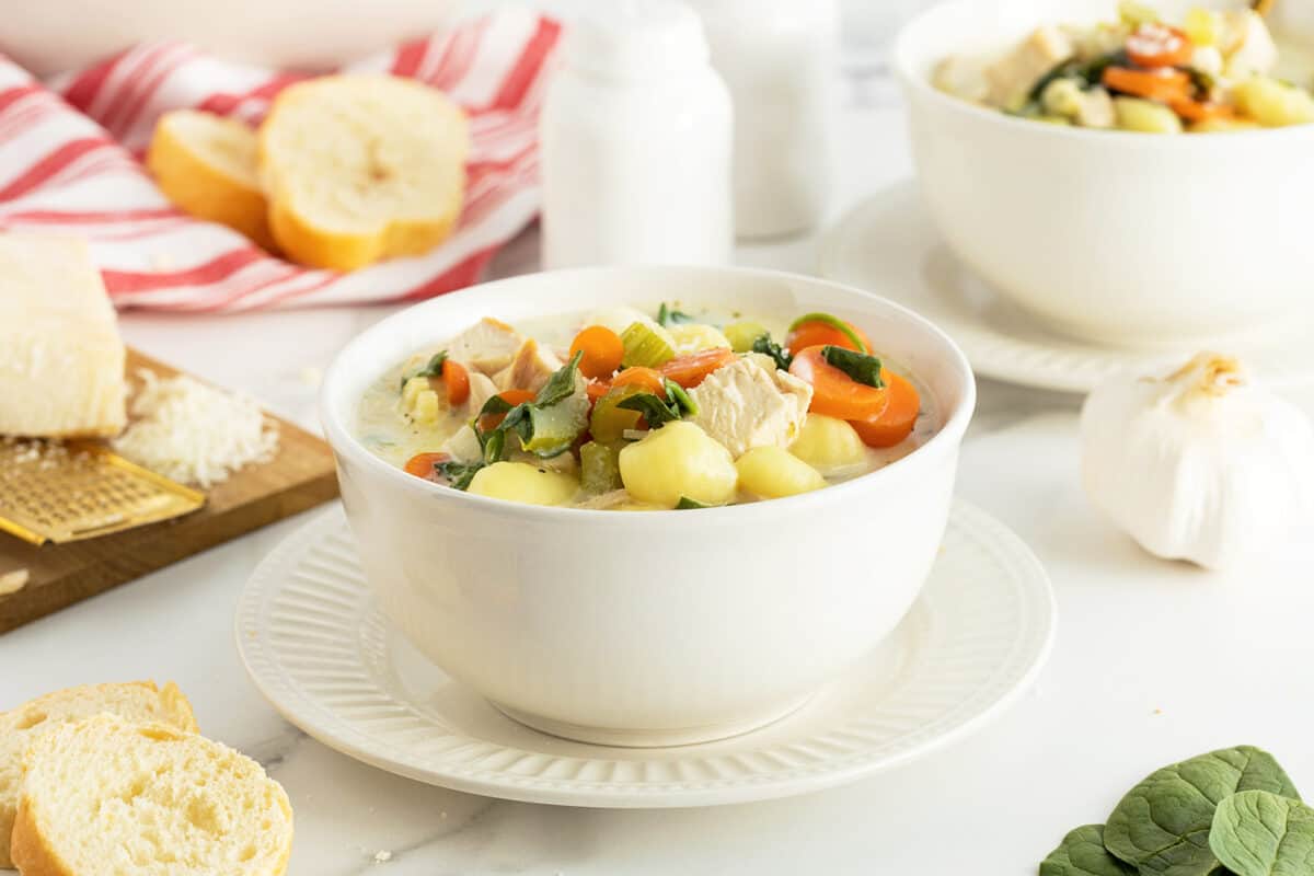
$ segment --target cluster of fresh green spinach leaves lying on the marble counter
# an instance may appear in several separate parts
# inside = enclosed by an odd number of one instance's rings
[[[1102,852],[1102,854],[1101,854]],[[1106,825],[1077,827],[1041,876],[1314,876],[1314,809],[1273,755],[1201,754],[1146,776]]]

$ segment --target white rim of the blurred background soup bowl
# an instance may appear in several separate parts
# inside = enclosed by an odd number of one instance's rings
[[[1179,150],[1179,151],[1231,151],[1248,148],[1256,141],[1275,139],[1311,139],[1314,138],[1314,122],[1303,125],[1288,125],[1285,127],[1259,127],[1254,130],[1226,131],[1217,134],[1201,134],[1193,137],[1147,135],[1139,131],[1100,130],[1091,127],[1077,127],[1075,125],[1041,125],[1033,120],[1018,118],[1008,113],[979,106],[962,97],[954,97],[936,88],[929,76],[920,72],[917,60],[912,55],[911,43],[922,32],[941,17],[962,17],[967,13],[980,13],[979,0],[941,0],[924,9],[921,13],[907,21],[895,34],[891,58],[895,75],[899,77],[908,93],[916,93],[924,100],[929,100],[938,106],[947,108],[949,112],[958,113],[967,118],[976,118],[986,123],[1001,125],[1016,131],[1030,131],[1028,135],[1037,138],[1075,139],[1084,142],[1106,143],[1113,148],[1129,150]],[[995,5],[999,5],[996,0]],[[1041,24],[1041,22],[1038,22]],[[941,55],[941,59],[949,55]]]

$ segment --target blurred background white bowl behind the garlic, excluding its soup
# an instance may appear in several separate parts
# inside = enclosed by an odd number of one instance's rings
[[[1112,0],[954,0],[904,28],[895,64],[922,196],[949,247],[1071,336],[1192,344],[1306,310],[1314,125],[1234,134],[1083,130],[945,95],[937,63],[1041,24],[1108,20]],[[1180,5],[1180,4],[1179,4]]]

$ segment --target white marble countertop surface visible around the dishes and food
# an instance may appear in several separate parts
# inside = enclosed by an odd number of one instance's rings
[[[861,71],[859,71],[861,72]],[[844,121],[846,204],[911,173],[880,76]],[[815,239],[741,250],[808,272]],[[532,234],[495,271],[532,268]],[[314,426],[313,377],[388,307],[242,317],[127,314],[127,340]],[[1031,693],[971,738],[850,787],[717,809],[586,810],[399,779],[284,722],[233,645],[233,609],[294,519],[0,637],[0,708],[87,682],[173,679],[202,728],[264,762],[297,817],[293,876],[350,873],[1034,873],[1066,830],[1101,820],[1164,763],[1214,747],[1275,751],[1314,787],[1314,549],[1231,578],[1150,559],[1076,479],[1071,397],[983,382],[959,493],[1013,527],[1059,603]],[[376,854],[390,860],[376,863]]]

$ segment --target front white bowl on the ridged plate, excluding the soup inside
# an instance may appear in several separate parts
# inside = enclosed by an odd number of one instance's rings
[[[637,512],[460,493],[355,433],[374,381],[486,315],[515,324],[674,298],[849,319],[917,382],[938,429],[887,468],[813,493]],[[339,353],[322,419],[365,575],[415,647],[531,726],[675,745],[787,714],[899,623],[940,546],[974,403],[958,347],[886,299],[765,271],[653,267],[531,274],[405,310]]]

